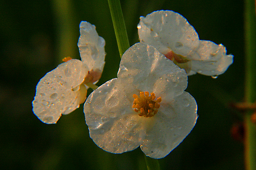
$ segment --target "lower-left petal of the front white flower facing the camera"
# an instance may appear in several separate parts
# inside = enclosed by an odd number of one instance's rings
[[[141,119],[132,110],[134,91],[125,82],[114,78],[93,91],[84,103],[90,137],[100,148],[111,153],[136,149],[145,132]]]

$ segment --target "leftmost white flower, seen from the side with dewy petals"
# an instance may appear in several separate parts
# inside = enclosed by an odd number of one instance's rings
[[[65,58],[65,63],[48,72],[36,85],[34,114],[44,123],[56,123],[84,103],[85,84],[96,83],[105,63],[105,41],[95,26],[82,21],[78,40],[81,60]],[[71,59],[71,60],[70,60]]]

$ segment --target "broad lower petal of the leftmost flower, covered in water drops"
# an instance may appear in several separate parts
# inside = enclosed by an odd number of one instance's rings
[[[88,71],[88,70],[87,70]],[[61,114],[79,107],[79,85],[87,72],[80,60],[72,59],[48,72],[36,86],[34,114],[44,123],[56,123]]]

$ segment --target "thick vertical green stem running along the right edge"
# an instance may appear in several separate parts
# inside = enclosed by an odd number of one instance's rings
[[[256,99],[256,16],[255,0],[245,0],[245,101]],[[256,169],[256,126],[251,121],[252,111],[245,114],[245,167]]]

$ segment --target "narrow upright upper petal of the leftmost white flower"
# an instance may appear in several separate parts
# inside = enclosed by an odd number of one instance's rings
[[[98,35],[95,26],[89,22],[80,23],[78,48],[83,64],[90,70],[102,72],[105,64],[105,40]]]

